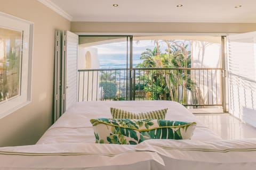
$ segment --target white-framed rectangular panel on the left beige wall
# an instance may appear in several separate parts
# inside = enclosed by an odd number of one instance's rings
[[[0,118],[31,100],[34,23],[0,12]]]

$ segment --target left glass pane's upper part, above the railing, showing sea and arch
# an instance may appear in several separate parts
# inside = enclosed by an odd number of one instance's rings
[[[126,36],[79,36],[79,48],[86,51],[79,69],[126,69],[130,62]]]

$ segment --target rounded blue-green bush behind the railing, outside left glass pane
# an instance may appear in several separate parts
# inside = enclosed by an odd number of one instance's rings
[[[116,84],[109,81],[100,82],[100,87],[103,88],[103,99],[114,99],[116,97]]]

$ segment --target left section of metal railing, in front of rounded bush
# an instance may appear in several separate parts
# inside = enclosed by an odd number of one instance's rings
[[[127,69],[78,70],[78,101],[129,100]]]

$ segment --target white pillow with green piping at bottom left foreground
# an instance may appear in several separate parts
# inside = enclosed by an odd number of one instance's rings
[[[161,156],[135,145],[58,143],[0,148],[0,169],[129,170],[163,167]]]

